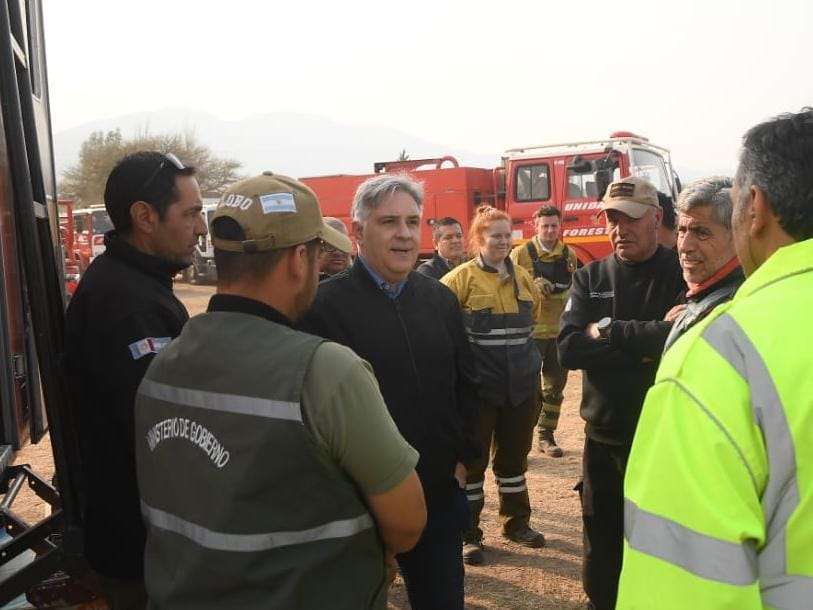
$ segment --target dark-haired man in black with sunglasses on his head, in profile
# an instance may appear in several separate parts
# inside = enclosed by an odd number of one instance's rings
[[[145,530],[135,474],[133,404],[152,357],[188,319],[172,278],[206,234],[195,170],[139,152],[107,180],[115,227],[66,321],[68,383],[82,457],[85,556],[111,606],[143,608]]]

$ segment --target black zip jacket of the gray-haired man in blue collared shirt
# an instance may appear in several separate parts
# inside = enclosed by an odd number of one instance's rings
[[[478,454],[478,380],[452,292],[412,272],[393,300],[356,261],[319,285],[302,327],[372,365],[395,424],[420,452],[427,501],[450,492],[455,463]]]

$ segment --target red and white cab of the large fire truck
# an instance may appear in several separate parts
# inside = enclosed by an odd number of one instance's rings
[[[533,214],[549,204],[562,212],[562,237],[582,263],[611,251],[598,215],[610,182],[641,176],[673,202],[680,192],[669,151],[627,131],[606,140],[513,148],[503,156],[502,172],[515,241],[534,235]]]

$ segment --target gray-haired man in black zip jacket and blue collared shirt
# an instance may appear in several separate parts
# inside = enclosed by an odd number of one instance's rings
[[[420,453],[428,521],[418,545],[397,556],[412,608],[462,610],[464,464],[477,455],[477,380],[457,299],[412,272],[421,203],[420,185],[403,176],[359,186],[351,212],[359,256],[319,285],[303,327],[372,364],[393,420]]]

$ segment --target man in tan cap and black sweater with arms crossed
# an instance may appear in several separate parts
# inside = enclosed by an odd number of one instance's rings
[[[614,253],[576,271],[558,348],[564,367],[584,371],[584,589],[591,608],[613,610],[627,456],[686,285],[676,253],[658,246],[662,211],[651,184],[635,177],[612,183],[602,210]]]

